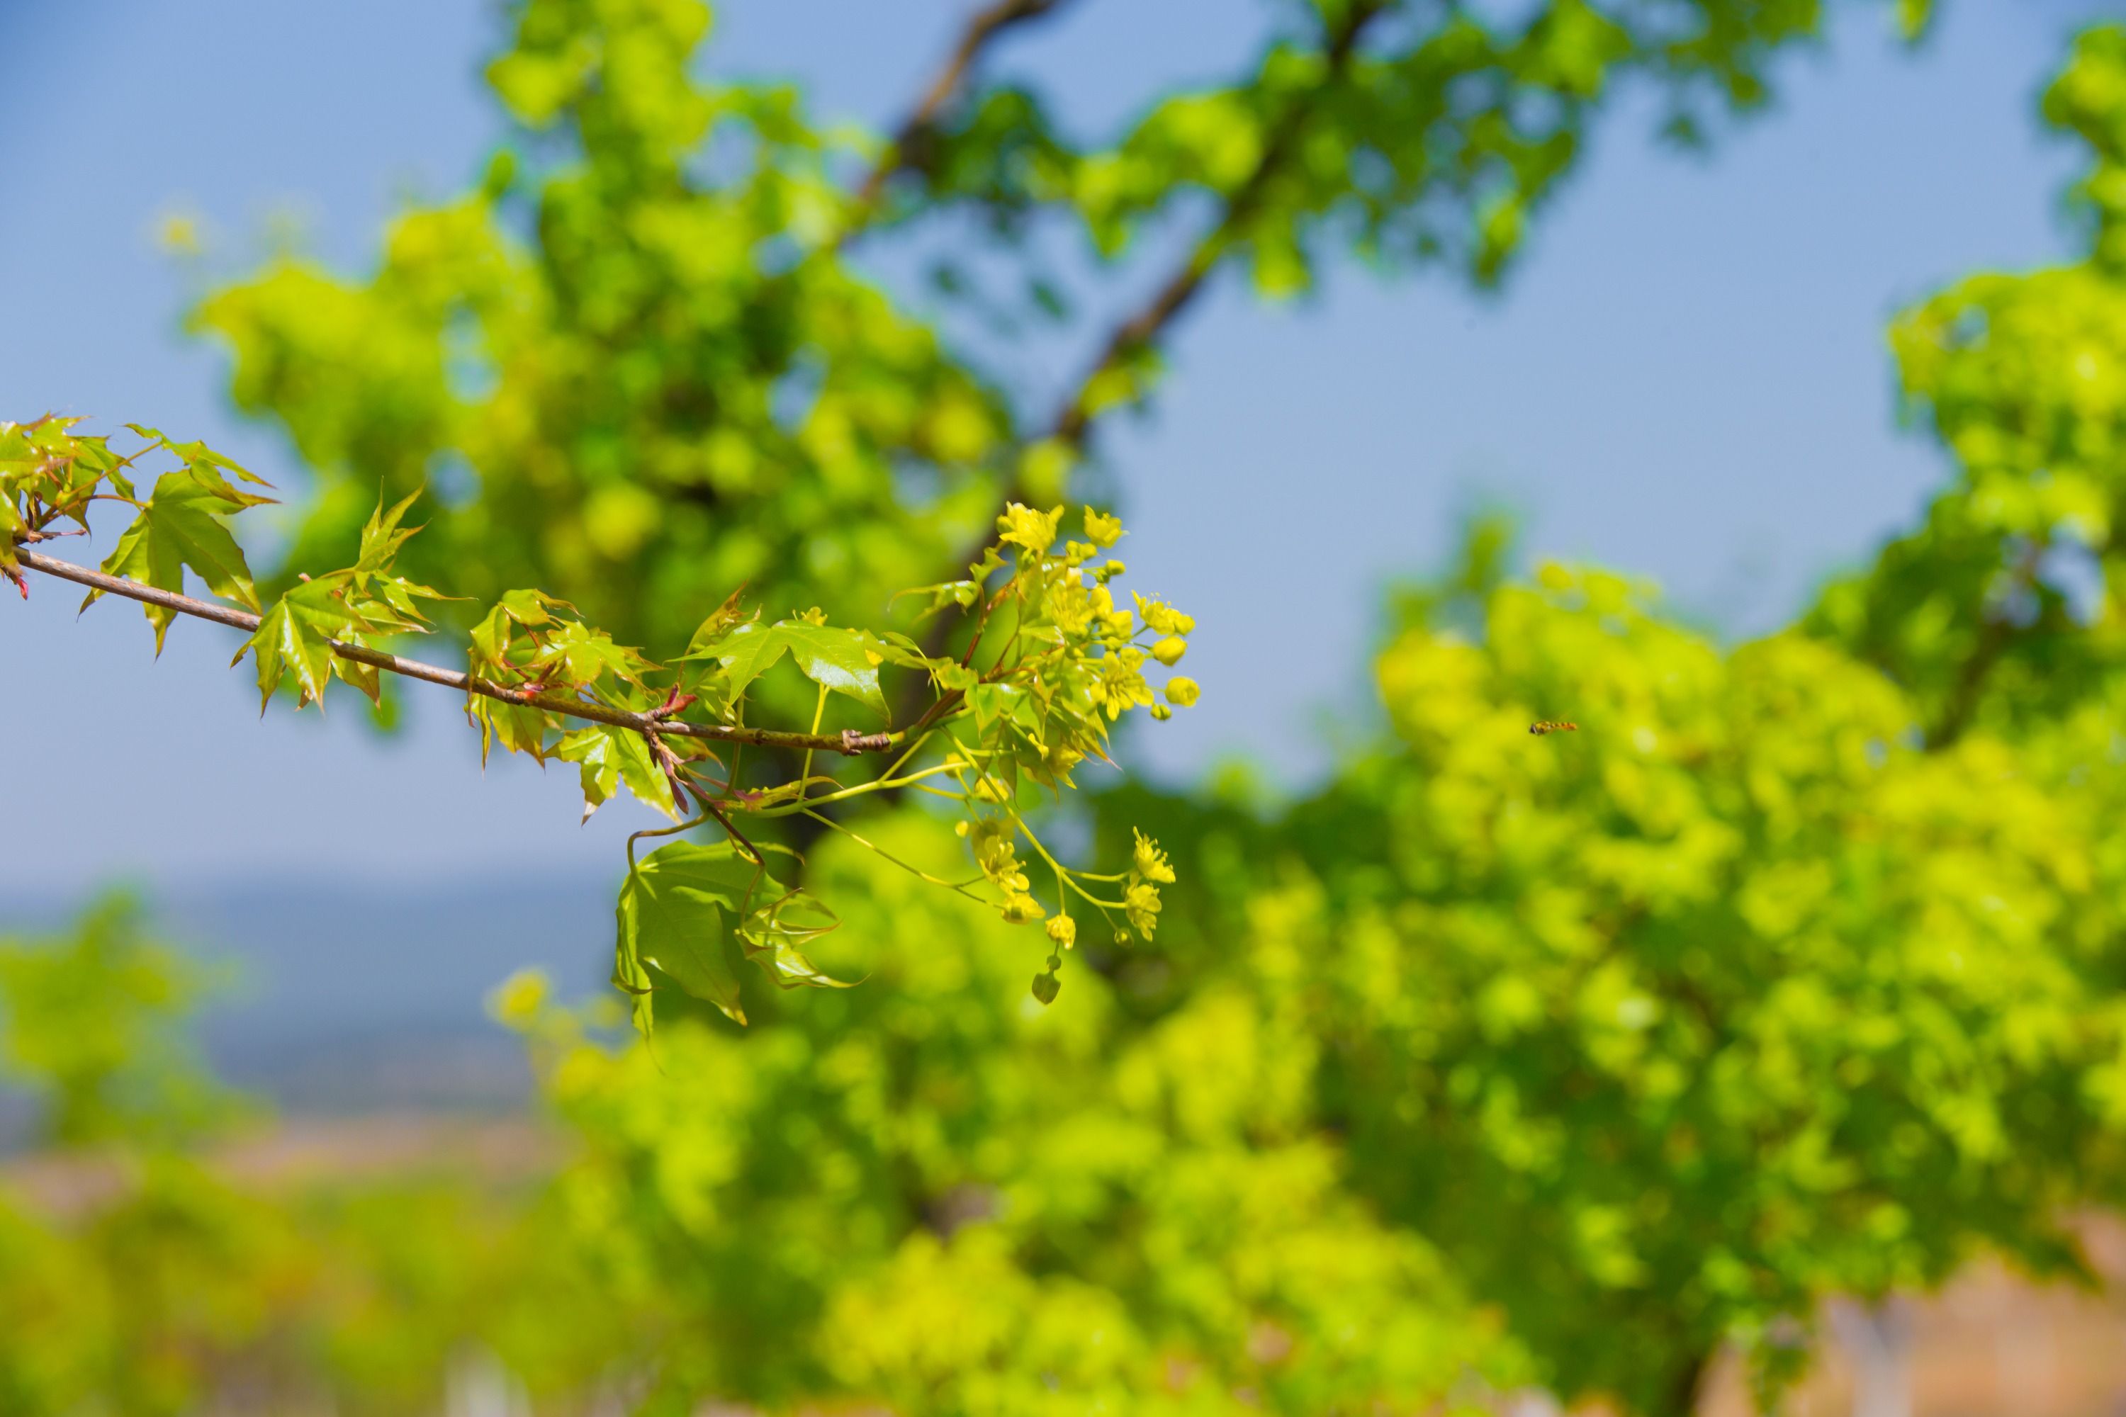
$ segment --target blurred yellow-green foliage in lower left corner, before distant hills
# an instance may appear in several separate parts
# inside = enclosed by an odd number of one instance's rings
[[[536,1188],[242,1164],[261,1109],[187,1041],[200,979],[125,897],[0,945],[43,1141],[0,1171],[0,1413],[434,1411],[487,1338],[595,1379],[629,1315],[546,1243]]]

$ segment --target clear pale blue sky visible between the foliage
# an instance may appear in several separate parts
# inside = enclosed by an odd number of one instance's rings
[[[712,64],[804,79],[876,125],[963,8],[746,0]],[[1159,410],[1108,444],[1133,578],[1201,622],[1205,703],[1146,735],[1150,767],[1316,771],[1320,722],[1367,716],[1380,584],[1437,559],[1471,497],[1522,508],[1533,550],[1652,576],[1731,633],[1865,557],[1943,472],[1896,427],[1884,321],[2064,251],[2077,155],[2039,136],[2035,96],[2088,8],[1950,0],[1913,55],[1854,6],[1711,157],[1652,144],[1626,106],[1495,297],[1354,270],[1278,310],[1216,291]],[[999,59],[1099,130],[1157,83],[1218,76],[1261,17],[1084,0]],[[155,221],[202,215],[232,261],[296,225],[359,268],[406,193],[478,168],[491,38],[474,0],[0,0],[0,416],[157,423],[293,480],[281,440],[227,410],[221,355],[181,336],[187,278]],[[51,584],[0,603],[0,905],[115,875],[597,877],[640,824],[617,805],[578,831],[572,773],[483,775],[446,695],[395,741],[355,714],[261,722],[219,631],[179,627],[157,663],[132,608],[77,622],[74,603]]]

